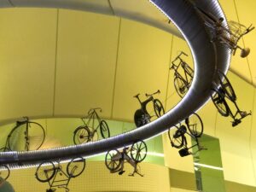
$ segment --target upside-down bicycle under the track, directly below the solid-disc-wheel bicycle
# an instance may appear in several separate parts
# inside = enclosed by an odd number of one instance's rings
[[[105,157],[105,165],[111,173],[119,172],[119,175],[122,175],[125,172],[124,164],[127,162],[134,168],[129,176],[134,176],[137,173],[143,177],[139,171],[138,163],[146,158],[147,151],[147,145],[143,141],[133,143],[131,148],[109,150]]]

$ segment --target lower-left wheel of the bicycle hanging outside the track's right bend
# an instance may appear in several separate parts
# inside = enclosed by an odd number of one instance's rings
[[[224,117],[228,117],[230,114],[230,110],[228,103],[224,99],[224,96],[215,89],[215,92],[212,92],[211,98],[213,104],[218,109],[218,113],[220,113]]]

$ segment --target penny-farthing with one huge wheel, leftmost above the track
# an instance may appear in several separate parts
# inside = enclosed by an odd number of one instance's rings
[[[9,132],[4,150],[38,150],[43,145],[44,138],[44,127],[25,117],[25,120],[17,121]]]

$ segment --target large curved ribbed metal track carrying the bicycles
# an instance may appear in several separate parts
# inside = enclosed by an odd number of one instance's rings
[[[189,43],[194,56],[195,76],[189,92],[183,100],[159,119],[134,131],[77,146],[0,153],[0,163],[36,163],[49,159],[68,159],[77,155],[88,156],[102,153],[111,148],[120,148],[138,139],[154,137],[154,135],[166,131],[207,102],[216,69],[225,72],[229,67],[230,51],[221,44],[210,43],[205,25],[189,0],[152,0],[151,2],[177,25]],[[211,12],[212,15],[224,17],[217,0],[195,0],[193,3],[199,4],[202,9]]]

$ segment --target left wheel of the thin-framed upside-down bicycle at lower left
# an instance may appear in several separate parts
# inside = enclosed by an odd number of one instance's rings
[[[38,166],[35,175],[39,182],[48,182],[55,176],[55,165],[51,161],[45,161]]]

